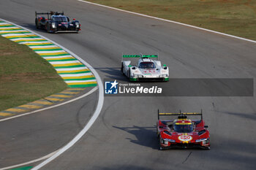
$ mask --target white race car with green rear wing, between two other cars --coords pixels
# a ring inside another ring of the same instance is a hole
[[[125,61],[124,58],[140,58],[136,66],[131,65],[131,61]],[[157,58],[153,60],[152,58]],[[158,55],[123,55],[121,61],[121,72],[125,74],[130,81],[168,81],[169,69],[161,61],[158,61]]]

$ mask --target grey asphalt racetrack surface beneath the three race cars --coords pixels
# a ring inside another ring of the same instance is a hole
[[[63,10],[80,20],[82,31],[36,30],[34,11],[50,10]],[[102,80],[126,80],[119,72],[121,53],[156,52],[169,66],[170,78],[256,77],[255,43],[80,1],[1,0],[0,17],[67,47],[90,63]],[[255,103],[255,97],[105,97],[88,133],[42,169],[255,169]],[[83,128],[96,105],[93,93],[62,107],[1,122],[0,168],[63,147]],[[211,150],[158,150],[157,109],[203,109]]]

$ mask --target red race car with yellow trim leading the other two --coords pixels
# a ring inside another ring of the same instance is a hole
[[[200,120],[190,120],[187,116],[200,115]],[[159,120],[160,116],[178,116],[173,120]],[[179,112],[159,113],[157,122],[157,136],[160,150],[171,148],[194,148],[210,149],[210,134],[208,125],[203,121],[203,113]]]

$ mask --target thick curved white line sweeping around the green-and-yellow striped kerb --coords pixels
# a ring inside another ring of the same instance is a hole
[[[3,20],[0,18],[0,20]],[[4,22],[9,22],[7,20],[4,20]],[[9,22],[11,23],[11,22]],[[15,26],[18,26],[17,24],[15,23],[11,23]],[[23,26],[19,26],[20,28],[23,28],[25,30],[28,30],[30,31],[31,33],[33,34],[37,34],[27,28],[24,28]],[[97,84],[98,84],[98,87],[99,87],[99,99],[98,99],[98,104],[97,104],[97,108],[94,112],[94,115],[91,117],[91,119],[89,120],[89,122],[86,124],[86,126],[83,128],[82,131],[79,132],[79,134],[77,136],[75,136],[74,139],[72,139],[72,141],[70,141],[67,145],[65,145],[64,147],[62,147],[60,150],[58,150],[56,153],[54,153],[52,156],[50,156],[50,158],[48,158],[47,160],[43,161],[42,163],[40,163],[38,166],[35,166],[33,169],[31,170],[36,170],[36,169],[40,169],[42,168],[42,166],[45,166],[46,164],[50,163],[50,161],[53,161],[55,158],[57,158],[59,155],[61,155],[63,152],[65,152],[66,150],[68,150],[70,147],[72,147],[76,142],[78,142],[78,140],[84,135],[86,134],[86,132],[89,130],[89,128],[91,128],[91,125],[94,124],[95,120],[97,120],[97,117],[99,116],[99,113],[100,111],[102,110],[102,107],[103,107],[103,103],[104,103],[104,88],[103,88],[103,84],[102,84],[102,80],[101,78],[99,77],[99,74],[96,72],[96,70],[89,64],[87,63],[86,61],[83,61],[82,58],[78,57],[78,55],[75,55],[75,53],[72,53],[70,50],[66,49],[65,47],[63,47],[62,45],[59,45],[58,43],[56,42],[53,42],[51,41],[50,39],[46,38],[45,36],[42,36],[42,35],[39,35],[37,34],[38,36],[41,36],[42,38],[44,39],[47,39],[49,42],[52,42],[53,44],[56,44],[58,45],[59,47],[61,47],[63,50],[67,51],[67,53],[71,54],[72,56],[74,56],[75,58],[77,58],[79,61],[81,61],[81,63],[83,63],[84,65],[86,65],[87,67],[90,68],[91,72],[94,74],[96,80],[97,80]],[[89,93],[93,93],[95,90],[97,90],[97,87],[93,88],[91,91],[89,91]],[[89,93],[86,93],[86,94],[89,94]],[[78,97],[78,98],[81,98]],[[75,98],[74,98],[75,99]],[[71,101],[70,101],[71,102]],[[65,102],[67,103],[67,102]]]

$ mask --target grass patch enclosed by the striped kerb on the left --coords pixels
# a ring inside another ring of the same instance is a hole
[[[26,45],[0,36],[0,111],[66,88],[48,61]]]

